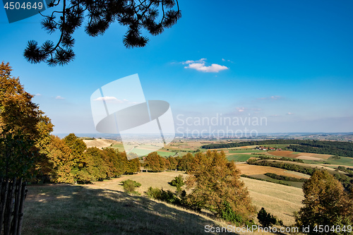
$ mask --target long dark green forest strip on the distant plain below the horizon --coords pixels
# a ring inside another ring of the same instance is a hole
[[[241,147],[246,145],[275,145],[288,144],[288,149],[294,152],[312,152],[325,155],[339,155],[342,157],[353,157],[353,143],[325,140],[253,140],[245,142],[222,143],[203,145],[205,149]]]

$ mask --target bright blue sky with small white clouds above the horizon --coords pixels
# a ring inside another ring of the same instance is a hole
[[[178,23],[161,35],[145,32],[143,48],[126,49],[118,23],[98,37],[80,28],[76,59],[54,68],[23,57],[28,40],[58,40],[42,30],[42,16],[8,23],[1,8],[0,60],[35,95],[54,134],[97,133],[92,93],[136,73],[145,100],[169,102],[177,133],[353,131],[353,1],[179,6]]]

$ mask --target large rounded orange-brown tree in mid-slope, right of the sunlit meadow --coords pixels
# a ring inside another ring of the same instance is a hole
[[[240,171],[234,162],[228,162],[225,153],[197,153],[187,171],[186,203],[198,210],[205,208],[221,216],[225,207],[237,214],[239,223],[245,223],[255,212],[249,192],[239,179]]]

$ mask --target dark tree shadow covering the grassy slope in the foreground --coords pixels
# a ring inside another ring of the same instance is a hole
[[[203,234],[205,225],[220,227],[211,219],[141,196],[44,184],[28,187],[23,234]]]

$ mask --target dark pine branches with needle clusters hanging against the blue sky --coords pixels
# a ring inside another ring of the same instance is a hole
[[[103,35],[114,22],[126,26],[123,42],[125,47],[132,48],[145,47],[148,43],[142,29],[159,35],[181,18],[178,0],[59,0],[55,4],[52,1],[49,7],[59,4],[62,4],[61,11],[52,11],[42,20],[42,28],[49,34],[59,30],[59,40],[56,43],[47,40],[42,46],[35,40],[28,41],[23,56],[30,63],[63,66],[72,61],[75,57],[73,32],[84,20],[87,20],[85,32],[92,37]]]

